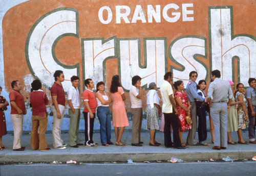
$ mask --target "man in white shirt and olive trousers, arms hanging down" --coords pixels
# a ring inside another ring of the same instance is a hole
[[[69,116],[70,116],[70,126],[69,126],[69,145],[71,147],[78,148],[78,145],[83,145],[79,143],[78,131],[79,131],[79,121],[80,121],[80,100],[79,91],[77,87],[79,86],[79,77],[71,77],[72,86],[68,90],[68,104],[69,104]]]

